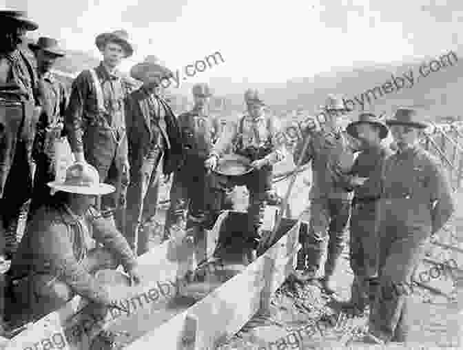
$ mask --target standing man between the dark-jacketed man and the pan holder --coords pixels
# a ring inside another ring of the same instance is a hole
[[[209,85],[198,83],[193,86],[194,107],[178,117],[181,128],[185,161],[174,173],[170,192],[170,207],[167,212],[165,236],[169,236],[172,224],[183,226],[187,216],[186,229],[196,246],[196,261],[206,258],[205,229],[214,225],[214,192],[210,187],[210,176],[204,167],[220,132],[220,122],[209,114],[209,99],[212,92]],[[217,203],[215,203],[217,204]]]

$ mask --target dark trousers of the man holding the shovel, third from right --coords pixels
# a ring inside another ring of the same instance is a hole
[[[347,223],[351,201],[342,198],[315,198],[311,200],[309,232],[302,247],[307,257],[307,268],[314,277],[319,273],[322,256],[327,251],[325,276],[329,277],[347,243]]]

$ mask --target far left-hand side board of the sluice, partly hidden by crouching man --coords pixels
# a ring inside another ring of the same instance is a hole
[[[216,221],[216,225],[214,225],[214,228],[209,231],[207,245],[208,256],[211,255],[215,249],[214,243],[217,241],[220,225],[227,215],[228,212],[220,214]],[[168,240],[162,245],[154,247],[154,249],[151,249],[147,252],[147,254],[138,258],[142,283],[137,287],[133,287],[131,295],[128,296],[128,298],[145,296],[146,299],[146,294],[154,287],[161,288],[159,283],[162,284],[171,281],[175,282],[176,280],[184,278],[188,269],[192,266],[191,259],[194,250],[192,247],[183,245],[181,243],[182,238],[182,236],[172,238],[172,240]],[[153,307],[150,303],[146,303],[143,306],[145,309],[146,307]],[[93,305],[88,305],[87,301],[82,300],[80,296],[76,296],[68,302],[68,304],[61,307],[61,309],[48,314],[37,322],[34,322],[30,325],[30,327],[25,329],[25,331],[12,338],[6,349],[33,349],[35,344],[48,342],[52,336],[54,336],[54,339],[59,339],[61,336],[68,336],[72,329],[76,329],[76,332],[79,332],[79,322],[86,322],[88,324],[89,316],[92,315],[93,309]],[[143,307],[140,307],[136,310],[136,313],[139,313],[142,310]],[[80,315],[78,317],[73,317],[76,313],[80,313]],[[89,342],[91,340],[90,338],[96,336],[96,333],[114,325],[115,322],[130,322],[130,320],[136,316],[136,313],[127,314],[125,317],[121,315],[114,318],[112,318],[112,316],[116,313],[107,313],[107,317],[104,319],[103,325],[101,325],[101,322],[99,324],[95,324],[92,329],[85,332],[87,333],[87,337],[72,337],[70,342],[66,342],[65,349],[88,349],[90,345]],[[81,333],[83,333],[82,327],[83,325],[81,325]],[[68,336],[68,338],[70,337]]]

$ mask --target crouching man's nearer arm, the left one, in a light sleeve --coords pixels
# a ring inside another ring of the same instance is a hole
[[[59,280],[62,280],[76,294],[88,298],[93,302],[109,305],[110,291],[105,289],[77,263],[70,240],[69,227],[52,223],[48,232],[42,234],[42,247],[46,247],[45,262],[50,263],[50,269]],[[67,233],[67,234],[66,234]]]

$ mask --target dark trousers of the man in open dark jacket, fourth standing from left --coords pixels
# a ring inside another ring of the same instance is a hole
[[[154,147],[143,160],[138,174],[134,174],[127,189],[127,224],[125,238],[132,249],[136,248],[136,254],[145,254],[148,251],[150,240],[149,230],[142,229],[144,220],[156,214],[158,197],[158,178],[161,176],[158,168],[163,149]],[[132,172],[133,174],[133,172]],[[154,194],[154,195],[153,195]],[[154,202],[147,200],[154,199]],[[149,208],[149,210],[147,210]],[[150,216],[147,216],[150,215]]]

